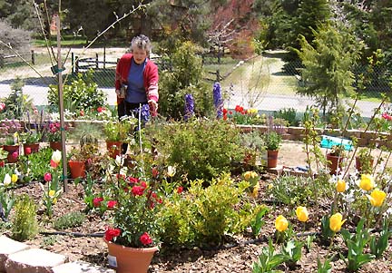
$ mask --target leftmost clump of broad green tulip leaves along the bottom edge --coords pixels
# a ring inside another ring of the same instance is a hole
[[[272,240],[269,239],[269,246],[261,250],[259,260],[253,262],[253,273],[281,273],[281,270],[275,270],[285,261],[285,257],[281,253],[275,252]]]

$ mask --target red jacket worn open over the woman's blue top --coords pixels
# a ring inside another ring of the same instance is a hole
[[[116,67],[116,76],[115,76],[115,89],[119,90],[122,86],[122,83],[128,83],[128,74],[131,69],[132,63],[132,54],[123,54]],[[158,94],[158,66],[153,63],[150,59],[147,59],[147,63],[144,67],[143,71],[143,82],[144,89],[147,94],[147,101],[158,102],[159,94]],[[123,99],[117,97],[117,104],[122,102]]]

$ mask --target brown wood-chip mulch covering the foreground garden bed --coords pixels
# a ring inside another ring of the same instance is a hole
[[[273,175],[266,174],[260,180],[260,196],[258,202],[262,203],[267,197],[263,194],[270,183]],[[37,202],[41,200],[42,190],[38,183],[31,183],[15,190],[17,194],[23,192],[29,194]],[[83,188],[69,183],[69,191],[62,195],[62,198],[54,206],[54,218],[69,213],[71,211],[83,211]],[[262,228],[260,238],[254,239],[250,233],[242,236],[230,238],[230,242],[217,249],[168,249],[162,248],[154,255],[149,272],[251,272],[252,263],[258,259],[263,247],[268,245],[268,239],[274,237],[274,220],[280,213],[288,216],[292,215],[292,209],[287,207],[270,206],[271,210],[266,217],[266,225]],[[327,210],[326,210],[327,211]],[[309,209],[310,215],[315,211]],[[324,212],[323,212],[324,213]],[[50,220],[44,216],[44,208],[38,210],[40,225],[44,230],[55,231],[51,228]],[[289,221],[296,222],[295,216],[288,217]],[[99,216],[88,215],[82,227],[67,229],[67,232],[80,232],[83,234],[103,233],[105,222]],[[305,228],[305,229],[304,229]],[[319,229],[318,223],[309,220],[306,227],[297,226],[296,230],[315,231]],[[5,231],[7,233],[7,231]],[[305,238],[304,238],[305,239]],[[64,235],[38,235],[35,239],[26,242],[29,245],[47,249],[55,253],[61,253],[70,261],[84,260],[93,264],[107,267],[107,247],[100,237],[73,237]],[[328,247],[322,246],[318,239],[312,243],[310,249],[303,248],[302,258],[294,268],[281,266],[283,272],[317,272],[317,259],[324,260],[328,254]],[[330,254],[337,254],[338,251],[347,251],[340,237],[335,237],[333,248]],[[332,261],[332,272],[345,272],[344,262],[338,255]],[[373,260],[358,272],[392,272],[392,248],[389,247],[384,254],[384,258]]]

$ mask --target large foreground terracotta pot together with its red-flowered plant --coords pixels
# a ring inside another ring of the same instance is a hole
[[[120,171],[121,164],[117,164]],[[153,173],[153,171],[152,171]],[[162,200],[156,193],[156,176],[148,180],[144,175],[125,176],[109,174],[113,222],[106,229],[104,242],[109,250],[109,267],[118,273],[146,273],[155,251],[158,250],[160,219],[157,213]],[[108,201],[109,204],[109,201]]]

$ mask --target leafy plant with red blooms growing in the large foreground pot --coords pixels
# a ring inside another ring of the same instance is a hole
[[[124,170],[120,157],[116,159],[117,167]],[[106,229],[104,239],[131,248],[148,248],[159,242],[160,219],[156,217],[162,204],[155,188],[159,173],[152,170],[152,179],[148,181],[143,175],[127,175],[120,171],[110,175],[109,183],[100,203],[113,204],[112,227]],[[105,200],[108,200],[105,202]]]

